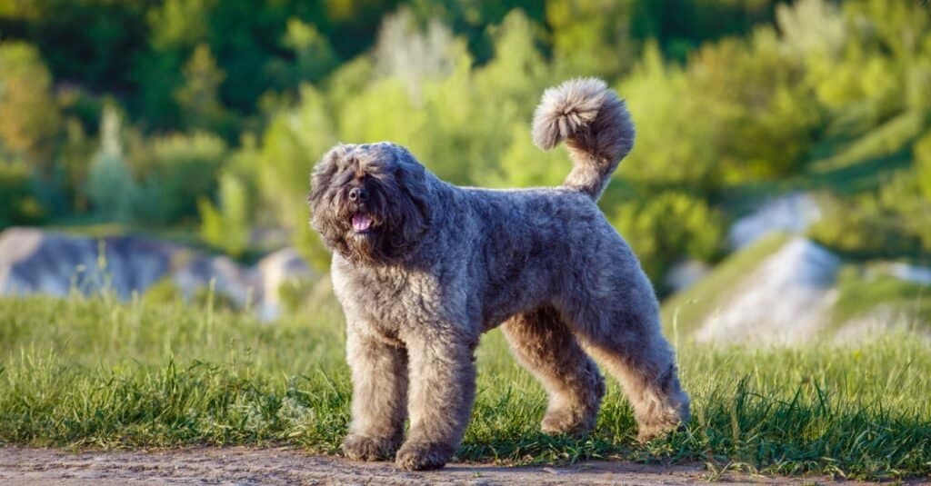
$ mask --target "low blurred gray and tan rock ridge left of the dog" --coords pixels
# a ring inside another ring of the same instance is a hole
[[[0,295],[111,290],[121,299],[170,278],[186,297],[209,287],[260,317],[280,314],[278,289],[316,277],[293,249],[269,254],[254,267],[181,245],[139,236],[90,238],[34,228],[0,234]]]

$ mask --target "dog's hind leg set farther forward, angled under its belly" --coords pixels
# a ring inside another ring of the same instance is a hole
[[[502,326],[511,352],[549,396],[540,428],[547,434],[584,433],[595,426],[604,379],[556,309],[544,306]]]

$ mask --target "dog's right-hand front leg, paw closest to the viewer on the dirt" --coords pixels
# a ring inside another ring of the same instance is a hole
[[[406,340],[410,365],[411,430],[398,467],[442,467],[459,449],[475,399],[475,345],[466,331],[420,328]]]

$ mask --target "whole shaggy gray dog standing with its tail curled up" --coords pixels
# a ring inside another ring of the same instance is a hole
[[[348,457],[446,464],[475,398],[479,335],[499,325],[546,388],[544,432],[595,425],[604,380],[589,356],[623,386],[641,439],[688,420],[653,287],[595,204],[633,145],[624,102],[597,79],[547,89],[533,139],[569,147],[560,187],[457,187],[387,142],[338,145],[314,169],[311,225],[333,250],[347,322]]]

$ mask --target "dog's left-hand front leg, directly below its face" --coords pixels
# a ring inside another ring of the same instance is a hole
[[[346,358],[352,369],[352,423],[343,441],[346,457],[374,461],[398,450],[404,435],[407,352],[350,324]]]

